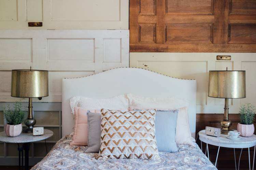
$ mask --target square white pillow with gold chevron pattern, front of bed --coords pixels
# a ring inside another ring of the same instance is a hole
[[[101,109],[98,158],[159,160],[155,136],[156,110]]]

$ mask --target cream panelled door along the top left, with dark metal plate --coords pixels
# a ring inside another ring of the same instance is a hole
[[[0,29],[129,29],[128,6],[128,0],[1,0]],[[29,21],[43,26],[28,27]]]

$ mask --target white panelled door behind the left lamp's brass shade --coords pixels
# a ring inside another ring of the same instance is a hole
[[[40,102],[61,102],[63,78],[129,66],[129,30],[0,30],[0,102],[27,101],[10,96],[11,70],[30,66],[49,70]]]

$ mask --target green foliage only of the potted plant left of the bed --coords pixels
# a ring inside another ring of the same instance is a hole
[[[17,125],[24,121],[25,108],[20,102],[15,102],[13,104],[13,108],[10,107],[10,104],[8,104],[6,107],[3,106],[3,116],[7,124]]]

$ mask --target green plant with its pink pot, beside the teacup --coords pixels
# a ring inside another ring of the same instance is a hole
[[[243,105],[240,107],[240,120],[241,123],[237,125],[237,131],[241,136],[250,137],[254,133],[254,116],[255,109],[252,104]]]

